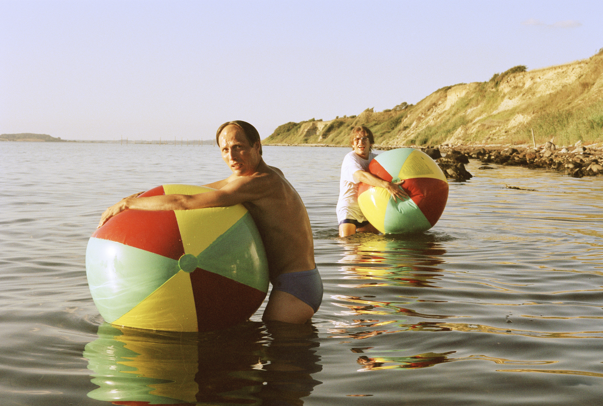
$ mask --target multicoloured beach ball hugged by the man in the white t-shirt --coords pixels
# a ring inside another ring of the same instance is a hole
[[[429,230],[440,219],[448,199],[448,181],[438,164],[413,148],[398,148],[377,155],[368,172],[388,182],[404,181],[409,199],[394,201],[382,187],[361,183],[358,204],[381,233],[405,234]]]

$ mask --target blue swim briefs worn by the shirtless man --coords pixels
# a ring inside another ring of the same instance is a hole
[[[300,272],[281,273],[271,281],[272,290],[280,290],[300,299],[314,309],[314,313],[323,301],[323,281],[318,268]]]

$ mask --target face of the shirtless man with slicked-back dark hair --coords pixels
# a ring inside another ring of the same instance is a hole
[[[218,136],[222,159],[236,176],[249,176],[256,172],[261,160],[259,142],[249,145],[241,127],[227,125]]]

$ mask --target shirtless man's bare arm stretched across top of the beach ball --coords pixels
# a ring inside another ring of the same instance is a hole
[[[217,185],[224,181],[212,183]],[[124,210],[191,210],[204,207],[226,207],[260,199],[270,193],[267,176],[245,176],[226,183],[221,189],[197,195],[162,195],[128,197],[107,208],[98,227]],[[208,187],[212,187],[207,185]]]

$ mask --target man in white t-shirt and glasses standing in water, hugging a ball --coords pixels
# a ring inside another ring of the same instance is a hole
[[[374,137],[364,125],[355,127],[350,134],[350,146],[353,151],[343,158],[341,180],[339,181],[339,201],[337,202],[337,221],[339,237],[347,237],[356,232],[379,233],[371,225],[358,205],[358,184],[363,182],[387,190],[394,199],[408,198],[400,184],[387,182],[367,172],[368,163],[377,156],[371,152]]]

